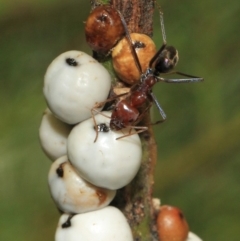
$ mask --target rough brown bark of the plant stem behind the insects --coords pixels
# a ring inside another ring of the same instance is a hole
[[[101,3],[103,1],[91,1],[92,8]],[[130,32],[152,36],[153,0],[110,0],[109,4],[123,14]],[[109,64],[105,64],[105,66],[107,67]],[[157,159],[157,147],[149,123],[150,115],[148,113],[141,123],[141,125],[148,126],[148,131],[140,135],[143,147],[141,168],[134,180],[118,191],[112,203],[127,217],[136,241],[158,240],[152,202],[153,172]]]

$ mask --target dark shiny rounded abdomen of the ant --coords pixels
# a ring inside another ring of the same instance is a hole
[[[165,47],[155,62],[155,74],[169,72],[176,66],[178,59],[178,51],[173,46]]]

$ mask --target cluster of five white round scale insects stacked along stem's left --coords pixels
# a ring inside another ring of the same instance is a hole
[[[50,193],[63,213],[55,241],[133,240],[126,218],[109,204],[137,174],[142,147],[137,134],[117,140],[129,130],[112,131],[111,112],[95,108],[110,88],[108,71],[80,51],[61,54],[47,69],[39,136],[53,161]]]

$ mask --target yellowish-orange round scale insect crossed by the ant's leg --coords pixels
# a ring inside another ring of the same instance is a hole
[[[130,34],[134,47],[145,72],[149,67],[149,61],[156,53],[156,46],[153,40],[145,34]],[[128,84],[135,84],[139,81],[141,73],[136,63],[126,37],[123,38],[112,51],[113,67],[118,77]]]

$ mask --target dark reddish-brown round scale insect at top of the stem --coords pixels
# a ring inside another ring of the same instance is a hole
[[[124,33],[121,18],[110,5],[96,7],[86,21],[87,43],[92,50],[99,53],[108,53]]]

